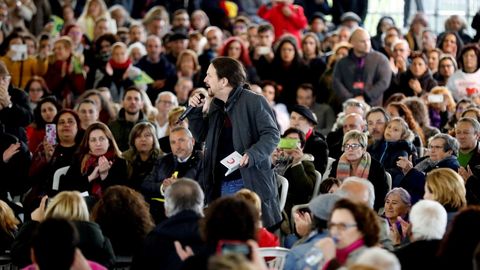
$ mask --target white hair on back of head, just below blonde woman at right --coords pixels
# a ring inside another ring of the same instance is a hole
[[[437,201],[421,200],[410,211],[413,239],[442,239],[447,228],[447,211]]]

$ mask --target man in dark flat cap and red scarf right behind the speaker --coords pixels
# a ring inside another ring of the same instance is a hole
[[[290,113],[290,127],[297,128],[305,134],[304,153],[311,154],[315,159],[315,169],[324,173],[327,168],[328,146],[323,135],[316,132],[314,127],[317,124],[313,112],[305,106],[294,105]]]

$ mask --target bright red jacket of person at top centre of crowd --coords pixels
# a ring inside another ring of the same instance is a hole
[[[274,6],[262,5],[258,9],[258,16],[269,21],[275,28],[275,40],[284,34],[292,34],[297,38],[298,46],[301,45],[301,33],[307,25],[307,17],[303,13],[303,7],[288,4],[292,14],[287,17],[283,14],[284,3],[278,3]]]

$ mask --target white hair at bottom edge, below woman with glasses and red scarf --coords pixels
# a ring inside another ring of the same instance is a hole
[[[371,266],[381,270],[400,270],[400,261],[391,252],[379,248],[367,248],[355,261],[355,265]]]

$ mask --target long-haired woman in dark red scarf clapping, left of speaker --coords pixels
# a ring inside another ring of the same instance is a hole
[[[125,184],[127,165],[110,129],[103,123],[91,124],[78,147],[78,155],[60,181],[59,190],[87,191],[102,197],[107,187]]]

